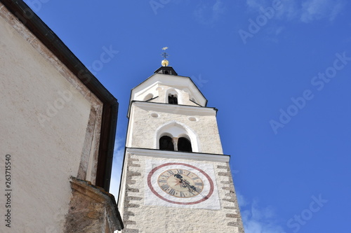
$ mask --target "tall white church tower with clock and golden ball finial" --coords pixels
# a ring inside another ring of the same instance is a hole
[[[244,232],[217,109],[206,104],[166,59],[131,91],[118,204],[122,232]]]

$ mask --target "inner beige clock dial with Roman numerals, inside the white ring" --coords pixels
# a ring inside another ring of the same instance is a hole
[[[180,198],[197,196],[204,189],[201,178],[185,169],[168,169],[159,175],[157,183],[168,195]]]

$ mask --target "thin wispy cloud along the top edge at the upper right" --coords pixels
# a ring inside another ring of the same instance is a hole
[[[312,22],[314,20],[333,21],[345,6],[345,0],[281,0],[282,9],[275,10],[275,17],[284,20]],[[246,0],[249,9],[272,6],[273,0]]]

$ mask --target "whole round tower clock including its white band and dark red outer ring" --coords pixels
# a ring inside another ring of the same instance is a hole
[[[171,204],[194,205],[213,195],[214,184],[208,174],[192,164],[160,164],[147,174],[147,186],[159,199]]]

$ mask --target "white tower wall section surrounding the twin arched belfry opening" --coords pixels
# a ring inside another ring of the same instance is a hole
[[[192,141],[194,152],[223,154],[213,108],[134,102],[126,146],[157,149],[162,127],[181,125]],[[175,132],[176,134],[176,132]],[[174,136],[174,135],[173,135]]]

